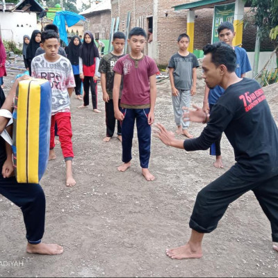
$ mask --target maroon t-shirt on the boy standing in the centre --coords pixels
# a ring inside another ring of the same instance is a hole
[[[133,59],[127,54],[117,60],[113,71],[124,76],[121,104],[150,104],[149,76],[158,72],[156,62],[152,58],[144,55],[141,59]]]

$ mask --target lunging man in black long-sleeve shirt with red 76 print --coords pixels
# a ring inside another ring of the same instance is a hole
[[[224,131],[234,148],[236,164],[208,184],[197,195],[186,245],[167,250],[172,259],[202,257],[202,239],[213,231],[227,207],[252,190],[270,220],[272,241],[278,242],[278,129],[259,83],[236,76],[236,54],[218,42],[204,47],[202,68],[208,88],[220,85],[224,94],[211,115],[197,108],[184,114],[184,120],[208,123],[199,138],[177,140],[174,133],[157,124],[156,137],[165,145],[195,151],[208,149]],[[273,245],[278,251],[278,247]]]

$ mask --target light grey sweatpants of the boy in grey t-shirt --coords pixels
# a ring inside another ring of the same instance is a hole
[[[174,97],[172,95],[172,103],[174,108],[174,121],[177,126],[182,125],[182,129],[188,129],[189,121],[183,121],[183,106],[190,107],[191,94],[190,90],[179,90],[179,95]]]

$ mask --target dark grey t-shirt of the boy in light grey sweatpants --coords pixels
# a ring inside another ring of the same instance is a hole
[[[178,90],[190,90],[192,87],[192,70],[199,67],[196,56],[189,53],[188,56],[174,54],[169,61],[168,67],[174,68],[174,86]]]

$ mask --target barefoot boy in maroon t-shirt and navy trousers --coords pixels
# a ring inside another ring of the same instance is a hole
[[[152,58],[142,54],[147,34],[142,28],[135,27],[129,33],[131,53],[117,60],[113,87],[115,118],[122,121],[122,161],[117,170],[124,172],[131,165],[131,147],[134,122],[136,120],[140,165],[142,175],[153,181],[149,172],[151,154],[151,125],[154,122],[156,103],[156,72],[158,67]],[[118,107],[120,83],[124,79],[120,109]]]

